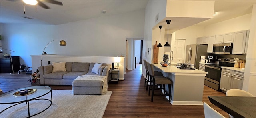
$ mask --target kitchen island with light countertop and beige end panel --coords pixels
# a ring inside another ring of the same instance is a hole
[[[172,64],[167,67],[162,67],[161,64],[153,65],[155,70],[161,71],[173,82],[171,104],[203,105],[204,76],[207,72],[198,69],[179,69]]]

